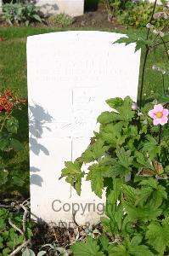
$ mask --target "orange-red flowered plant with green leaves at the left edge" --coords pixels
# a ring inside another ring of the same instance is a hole
[[[14,117],[14,111],[21,110],[25,101],[15,96],[11,90],[0,92],[0,186],[7,184],[22,186],[24,180],[20,174],[14,172],[8,157],[10,153],[17,154],[23,147],[16,135],[19,121]],[[8,155],[8,157],[7,157]],[[16,166],[17,167],[17,166]]]

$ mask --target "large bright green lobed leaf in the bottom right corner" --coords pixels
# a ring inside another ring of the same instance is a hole
[[[166,252],[166,247],[169,246],[169,218],[163,219],[161,223],[149,224],[146,238],[149,245],[163,255]]]

